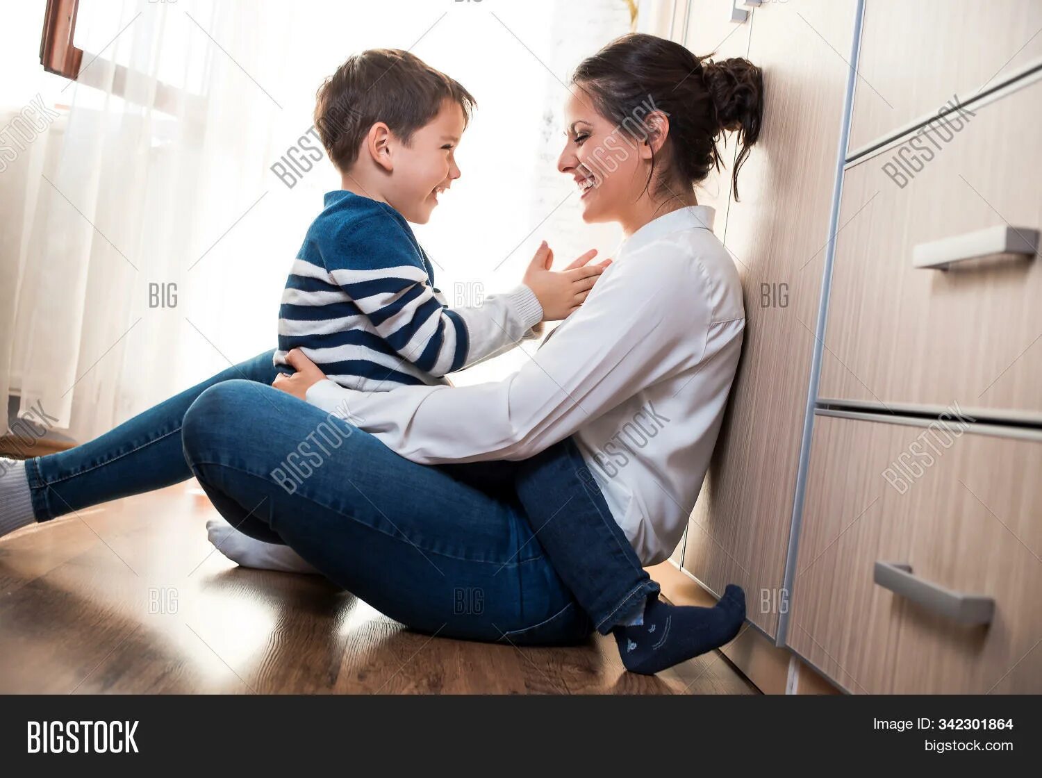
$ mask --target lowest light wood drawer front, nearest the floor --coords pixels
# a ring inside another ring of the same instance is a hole
[[[815,419],[787,642],[852,693],[1042,692],[1042,435],[972,429]],[[877,561],[992,599],[990,623],[875,583]]]

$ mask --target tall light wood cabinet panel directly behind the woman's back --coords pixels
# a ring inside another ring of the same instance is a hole
[[[684,567],[718,594],[727,583],[742,585],[750,621],[773,635],[857,3],[770,3],[742,25],[727,21],[727,1],[690,5],[688,48],[760,66],[766,108],[760,142],[739,177],[741,200],[724,199],[728,175],[709,182],[717,193],[706,201],[717,208],[715,231],[742,277],[746,330]]]

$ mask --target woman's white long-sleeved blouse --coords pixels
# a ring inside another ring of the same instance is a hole
[[[695,205],[637,230],[586,303],[502,380],[369,394],[326,380],[307,401],[423,465],[525,459],[574,435],[641,561],[660,562],[701,490],[745,327],[713,216]]]

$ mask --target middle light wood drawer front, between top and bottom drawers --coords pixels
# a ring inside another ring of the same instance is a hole
[[[1024,237],[1042,228],[1042,78],[971,108],[959,131],[918,137],[903,178],[894,159],[913,148],[909,139],[846,171],[822,400],[958,403],[974,418],[1042,419],[1038,255],[913,265],[917,246],[986,228],[1012,225]]]

